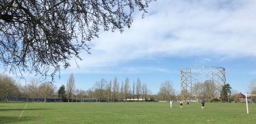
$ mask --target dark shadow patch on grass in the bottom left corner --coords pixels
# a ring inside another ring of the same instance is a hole
[[[37,117],[21,117],[21,119],[18,119],[18,117],[0,117],[0,123],[29,123],[29,121],[34,121],[36,118]]]

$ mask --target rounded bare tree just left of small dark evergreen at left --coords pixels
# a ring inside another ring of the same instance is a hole
[[[54,95],[56,85],[51,82],[42,82],[39,86],[40,95],[44,97],[44,102],[47,102],[47,97]]]

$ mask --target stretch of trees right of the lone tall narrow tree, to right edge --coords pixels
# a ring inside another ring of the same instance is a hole
[[[256,78],[251,81],[249,86],[251,89],[251,94],[256,94]],[[162,82],[159,88],[159,92],[156,95],[152,95],[151,91],[147,89],[146,83],[141,83],[140,78],[137,82],[131,84],[129,78],[125,79],[125,82],[122,81],[120,84],[117,82],[115,77],[113,82],[107,83],[107,81],[102,78],[101,81],[95,82],[94,87],[84,91],[76,89],[71,94],[73,99],[83,99],[86,97],[97,97],[100,100],[120,100],[120,99],[144,99],[144,100],[153,100],[153,99],[162,99],[162,100],[181,100],[181,99],[199,99],[207,100],[211,102],[213,100],[218,101],[222,100],[223,102],[235,101],[238,100],[235,95],[238,91],[231,89],[230,84],[225,84],[222,87],[214,84],[212,80],[205,80],[205,82],[198,82],[192,87],[192,97],[191,92],[180,93],[175,91],[173,88],[172,82],[166,80]]]

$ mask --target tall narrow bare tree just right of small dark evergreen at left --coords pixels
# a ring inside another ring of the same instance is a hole
[[[69,76],[68,81],[66,82],[66,95],[69,99],[71,99],[71,95],[73,91],[75,90],[75,78],[73,76],[73,73],[71,73],[71,76]]]

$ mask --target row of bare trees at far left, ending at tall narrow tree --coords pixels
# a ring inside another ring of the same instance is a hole
[[[10,76],[0,74],[0,97],[5,97],[6,102],[8,102],[9,97],[16,97],[17,99],[18,97],[25,97],[27,99],[44,98],[44,102],[47,101],[47,98],[70,99],[75,90],[73,73],[68,78],[66,90],[63,86],[56,92],[57,87],[55,84],[51,82],[40,82],[36,79],[29,80],[23,86]],[[62,90],[63,88],[64,90]]]

